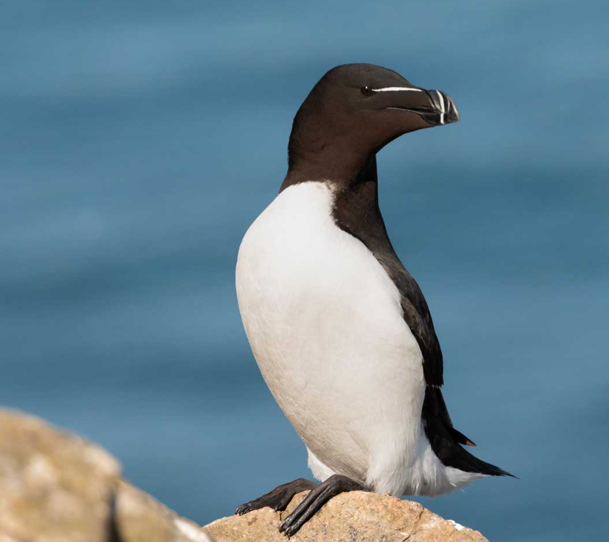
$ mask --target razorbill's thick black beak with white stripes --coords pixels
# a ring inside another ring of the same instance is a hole
[[[459,122],[459,111],[448,94],[414,87],[408,90],[411,92],[404,89],[403,93],[392,93],[392,103],[387,104],[385,109],[401,109],[416,113],[430,126]]]

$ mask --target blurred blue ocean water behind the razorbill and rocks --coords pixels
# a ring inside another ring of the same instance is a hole
[[[234,292],[292,117],[343,62],[448,92],[381,207],[476,454],[420,499],[493,542],[599,539],[609,446],[608,4],[19,0],[0,8],[0,403],[199,523],[299,476]]]

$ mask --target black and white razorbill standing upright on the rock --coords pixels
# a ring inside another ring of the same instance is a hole
[[[321,484],[295,480],[243,504],[286,508],[294,534],[343,491],[442,495],[506,471],[472,456],[441,393],[442,353],[415,279],[378,207],[376,153],[459,121],[455,103],[374,64],[326,73],[298,110],[279,195],[239,249],[251,349]]]

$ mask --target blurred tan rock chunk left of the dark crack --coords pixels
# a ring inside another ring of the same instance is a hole
[[[0,532],[16,541],[105,541],[119,470],[82,438],[0,411]]]

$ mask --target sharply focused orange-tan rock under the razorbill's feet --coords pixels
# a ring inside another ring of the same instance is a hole
[[[308,492],[296,495],[285,512],[262,508],[217,519],[204,527],[216,542],[285,542],[277,528]],[[331,499],[297,532],[295,541],[315,542],[488,542],[474,531],[442,519],[417,502],[353,491]]]

